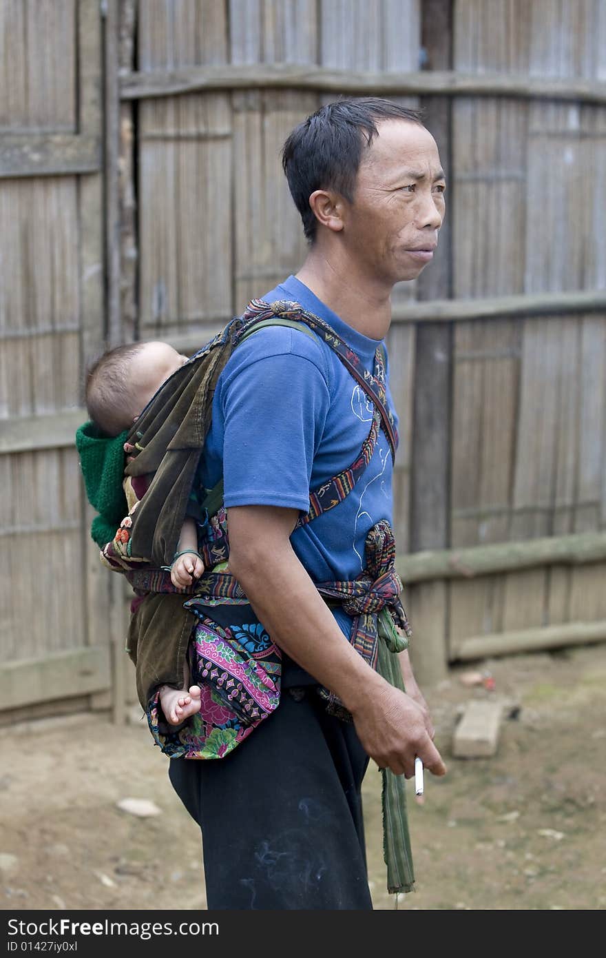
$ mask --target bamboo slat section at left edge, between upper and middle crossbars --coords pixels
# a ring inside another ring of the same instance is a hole
[[[0,183],[0,416],[78,403],[78,194],[67,178]],[[74,332],[54,332],[72,327]],[[44,330],[44,332],[36,332]],[[63,372],[64,377],[59,374]]]

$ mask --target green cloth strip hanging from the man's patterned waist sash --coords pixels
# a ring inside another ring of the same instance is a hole
[[[397,653],[408,648],[408,640],[395,630],[393,619],[387,608],[378,614],[379,648],[377,672],[404,692],[404,681]],[[406,779],[403,775],[394,775],[390,768],[381,770],[383,787],[381,804],[383,809],[383,857],[387,865],[387,889],[391,893],[412,892],[415,890],[415,871],[411,836],[406,813]]]

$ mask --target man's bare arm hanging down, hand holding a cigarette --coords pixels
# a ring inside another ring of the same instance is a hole
[[[415,756],[434,774],[445,766],[415,701],[353,649],[290,544],[299,512],[274,506],[228,509],[230,571],[274,641],[334,692],[379,767],[407,778]]]

